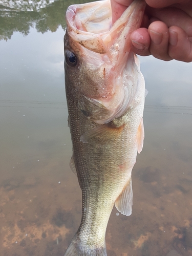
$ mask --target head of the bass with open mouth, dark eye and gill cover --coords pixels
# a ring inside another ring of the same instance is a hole
[[[98,124],[121,116],[137,91],[139,67],[130,36],[140,27],[144,8],[143,0],[135,0],[113,26],[110,0],[67,10],[67,90],[79,110]]]

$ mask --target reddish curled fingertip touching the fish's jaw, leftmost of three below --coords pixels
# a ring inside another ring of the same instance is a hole
[[[131,34],[132,51],[141,56],[150,55],[150,35],[148,29],[140,28]]]

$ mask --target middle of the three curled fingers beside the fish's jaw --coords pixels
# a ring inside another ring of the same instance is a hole
[[[148,27],[148,33],[151,37],[150,52],[151,54],[162,60],[171,60],[168,54],[169,33],[168,27],[163,22],[153,22]]]

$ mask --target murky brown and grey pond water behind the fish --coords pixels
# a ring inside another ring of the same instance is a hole
[[[3,2],[0,255],[59,256],[81,217],[81,192],[69,168],[63,78],[69,3],[55,1],[38,12],[18,12]],[[133,170],[133,213],[125,217],[113,209],[106,231],[108,255],[189,256],[192,63],[140,59],[149,91],[144,148]]]

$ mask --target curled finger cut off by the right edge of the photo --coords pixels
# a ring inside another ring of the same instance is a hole
[[[190,62],[192,61],[192,42],[186,32],[176,26],[172,26],[169,31],[168,54],[174,59]]]

